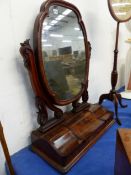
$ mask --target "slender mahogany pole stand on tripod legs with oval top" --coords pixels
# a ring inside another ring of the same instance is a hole
[[[118,80],[118,71],[117,71],[117,59],[118,59],[118,43],[119,43],[119,26],[121,22],[127,22],[131,19],[131,0],[108,0],[109,11],[117,21],[116,28],[116,41],[115,41],[115,50],[114,50],[114,64],[113,70],[111,73],[111,86],[109,94],[103,94],[100,96],[99,104],[102,104],[104,99],[108,99],[114,103],[116,121],[121,125],[121,121],[118,117],[118,103],[122,108],[126,108],[127,105],[122,104],[121,94],[116,91],[116,84]]]

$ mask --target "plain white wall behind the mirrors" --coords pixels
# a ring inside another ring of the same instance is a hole
[[[80,9],[92,44],[89,95],[90,101],[98,101],[99,95],[110,89],[116,22],[109,14],[106,0],[68,1]],[[30,132],[37,126],[34,94],[19,54],[19,43],[28,38],[32,42],[33,24],[42,2],[0,1],[0,119],[11,154],[30,143]],[[124,24],[120,34],[119,69],[128,49],[124,41],[129,33]],[[4,175],[0,147],[0,164],[1,161],[0,174]]]

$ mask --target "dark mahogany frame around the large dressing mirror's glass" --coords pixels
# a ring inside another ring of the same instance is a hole
[[[58,99],[56,94],[49,87],[48,81],[47,81],[47,78],[45,75],[44,63],[42,60],[43,59],[42,48],[41,48],[42,24],[43,24],[43,21],[45,20],[45,18],[48,16],[49,8],[52,5],[62,6],[62,7],[71,9],[73,12],[75,12],[75,14],[78,18],[78,23],[81,27],[81,30],[82,30],[82,33],[84,36],[85,54],[86,54],[86,65],[85,65],[86,72],[85,72],[84,82],[82,82],[82,84],[81,84],[82,88],[81,88],[81,91],[78,93],[78,95],[74,96],[71,99],[67,99],[67,100]],[[45,93],[46,98],[48,98],[51,103],[53,103],[55,105],[59,105],[59,106],[64,106],[64,105],[70,104],[74,101],[78,101],[88,86],[90,45],[87,41],[86,29],[85,29],[81,14],[80,14],[79,10],[77,9],[77,7],[75,7],[73,4],[70,4],[69,2],[65,2],[63,0],[49,0],[49,1],[46,1],[45,3],[43,3],[41,5],[40,13],[37,16],[36,21],[35,21],[35,25],[34,25],[34,42],[33,42],[33,44],[34,44],[34,54],[35,54],[35,58],[36,58],[35,61],[36,61],[37,69],[39,70],[39,72],[38,72],[39,78],[40,78],[40,82],[42,85],[42,89],[44,92],[46,92]]]

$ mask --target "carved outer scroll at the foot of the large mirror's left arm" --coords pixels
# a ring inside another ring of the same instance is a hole
[[[46,105],[43,99],[40,97],[36,97],[35,104],[36,104],[36,107],[38,108],[37,122],[42,128],[48,122],[48,113],[47,113]]]

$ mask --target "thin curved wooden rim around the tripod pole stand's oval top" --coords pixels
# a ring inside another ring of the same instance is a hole
[[[127,22],[131,19],[131,16],[125,20],[122,20],[122,19],[119,19],[116,15],[115,15],[115,12],[111,6],[111,1],[112,0],[108,0],[108,7],[109,7],[109,10],[110,10],[110,13],[111,13],[111,16],[114,18],[114,20],[116,20],[117,22]]]

